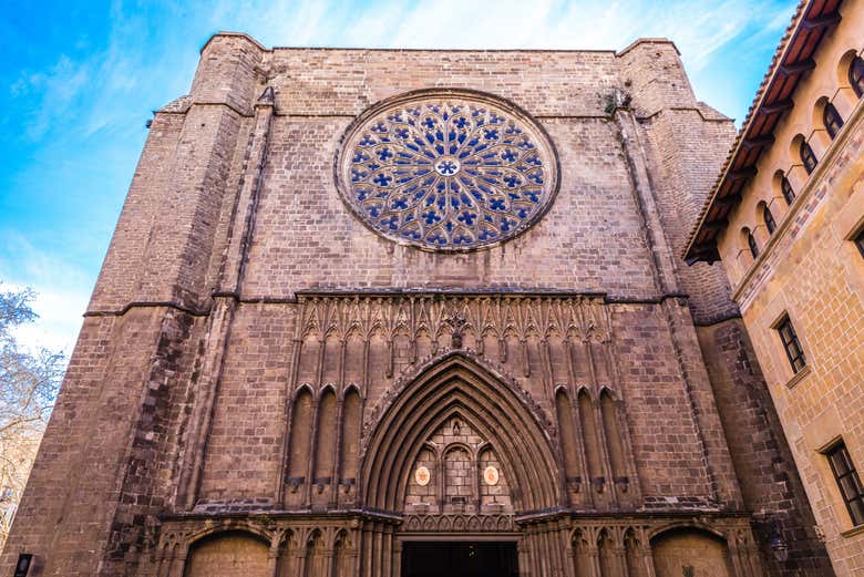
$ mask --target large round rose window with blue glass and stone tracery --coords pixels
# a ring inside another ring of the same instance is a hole
[[[524,113],[475,93],[410,97],[361,117],[338,161],[351,209],[388,238],[439,250],[501,243],[557,187],[547,137]]]

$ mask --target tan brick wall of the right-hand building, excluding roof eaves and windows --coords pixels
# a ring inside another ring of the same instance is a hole
[[[864,471],[864,259],[852,241],[864,224],[864,107],[848,84],[864,12],[860,1],[843,2],[840,11],[842,20],[813,55],[815,68],[792,95],[794,107],[774,130],[774,143],[729,215],[718,248],[834,570],[858,575],[864,533],[853,527],[823,453],[842,439],[858,474]],[[822,119],[825,102],[844,122],[833,140]],[[799,155],[800,136],[819,159],[812,174]],[[780,173],[795,193],[791,204],[781,193]],[[776,223],[773,234],[763,206]],[[755,259],[744,227],[755,237]],[[798,374],[775,329],[784,315],[806,359]]]

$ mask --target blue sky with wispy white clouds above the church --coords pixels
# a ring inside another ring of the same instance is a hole
[[[795,0],[19,2],[0,11],[0,281],[39,292],[30,346],[71,352],[146,137],[218,30],[265,45],[619,50],[672,39],[740,121]]]

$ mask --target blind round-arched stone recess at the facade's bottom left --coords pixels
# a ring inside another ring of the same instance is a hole
[[[189,548],[184,577],[265,577],[268,544],[257,535],[230,530],[208,535]]]

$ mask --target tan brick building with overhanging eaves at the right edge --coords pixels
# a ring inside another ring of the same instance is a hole
[[[722,258],[837,575],[864,575],[864,2],[804,2],[687,256]]]

